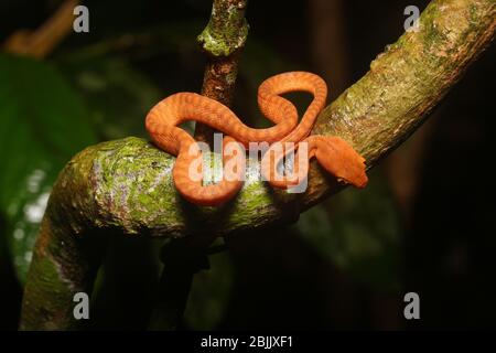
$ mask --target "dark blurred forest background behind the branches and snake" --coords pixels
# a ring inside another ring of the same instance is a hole
[[[2,0],[0,40],[37,28],[58,3]],[[71,34],[44,62],[82,98],[97,140],[145,137],[142,122],[154,103],[201,88],[206,58],[195,36],[211,3],[85,4],[90,33]],[[234,110],[261,126],[256,88],[289,69],[322,75],[336,97],[401,35],[409,4],[423,10],[427,1],[250,1]],[[212,269],[196,276],[181,329],[495,328],[494,62],[489,49],[429,121],[371,172],[365,191],[346,190],[295,225],[231,238],[230,250],[212,256]],[[15,329],[20,250],[9,245],[13,221],[0,211],[0,328]],[[90,328],[145,328],[160,246],[112,239]],[[402,315],[409,291],[420,296],[420,320]]]

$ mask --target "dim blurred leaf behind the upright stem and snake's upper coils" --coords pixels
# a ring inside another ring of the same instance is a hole
[[[56,61],[85,95],[104,139],[145,137],[142,119],[154,104],[180,90],[200,90],[206,56],[196,35],[204,25],[196,20],[170,21],[58,53]],[[258,109],[258,86],[274,74],[298,68],[260,39],[250,38],[240,60],[235,111],[249,125],[271,126]],[[291,100],[302,111],[308,98],[296,94]]]

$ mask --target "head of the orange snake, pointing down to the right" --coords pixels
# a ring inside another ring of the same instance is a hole
[[[315,157],[327,172],[355,188],[367,185],[365,159],[348,142],[338,137],[325,137],[319,142]]]

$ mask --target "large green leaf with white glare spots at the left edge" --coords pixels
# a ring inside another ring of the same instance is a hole
[[[53,66],[0,54],[0,212],[21,281],[58,171],[95,142],[88,110]]]

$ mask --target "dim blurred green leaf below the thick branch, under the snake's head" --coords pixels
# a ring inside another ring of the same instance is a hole
[[[294,227],[319,254],[355,278],[397,288],[402,229],[392,195],[377,171],[365,190],[342,191],[303,213]]]

